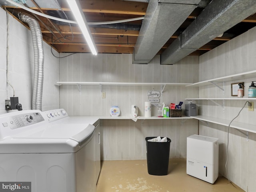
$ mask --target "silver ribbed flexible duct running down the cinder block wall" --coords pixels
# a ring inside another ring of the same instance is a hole
[[[18,13],[21,21],[28,23],[34,47],[34,84],[32,92],[32,109],[42,111],[42,94],[44,82],[44,47],[43,37],[38,21],[27,13]]]

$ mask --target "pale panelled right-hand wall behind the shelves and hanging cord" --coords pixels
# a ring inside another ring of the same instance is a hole
[[[241,72],[256,70],[256,28],[218,46],[199,58],[199,79],[207,80],[228,76]],[[216,53],[216,54],[215,54]],[[206,66],[207,65],[207,66]],[[223,72],[224,71],[224,72]],[[208,76],[210,78],[208,78]],[[214,76],[210,76],[214,74]],[[248,87],[255,78],[225,82],[224,94],[219,88],[210,85],[199,88],[200,98],[231,98],[231,83],[244,82],[244,97],[248,97]],[[222,84],[219,84],[222,86]],[[222,100],[216,101],[222,104]],[[217,106],[210,101],[200,101],[200,114],[232,120],[246,100],[225,100],[224,107]],[[255,104],[255,102],[254,102]],[[255,108],[255,107],[254,107]],[[256,124],[256,110],[248,111],[247,104],[235,121],[245,124]],[[225,169],[227,160],[228,128],[217,124],[199,123],[199,133],[204,136],[219,138],[219,172],[228,177]],[[249,133],[249,141],[244,134],[230,128],[228,147],[229,179],[248,192],[255,191],[255,141],[256,134]],[[252,182],[254,180],[254,182]]]

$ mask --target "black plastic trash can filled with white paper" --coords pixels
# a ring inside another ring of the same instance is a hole
[[[167,142],[148,141],[152,138],[156,137],[145,138],[147,147],[148,174],[167,175],[171,140],[167,138]],[[161,137],[161,139],[162,138],[163,137]]]

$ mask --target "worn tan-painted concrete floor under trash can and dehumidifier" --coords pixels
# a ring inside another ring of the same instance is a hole
[[[186,159],[170,159],[168,175],[148,174],[146,160],[103,161],[97,192],[244,192],[219,176],[214,184],[186,174]]]

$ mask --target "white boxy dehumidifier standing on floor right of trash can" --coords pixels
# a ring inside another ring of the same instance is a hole
[[[217,138],[187,137],[187,174],[214,183],[218,178],[219,144]]]

